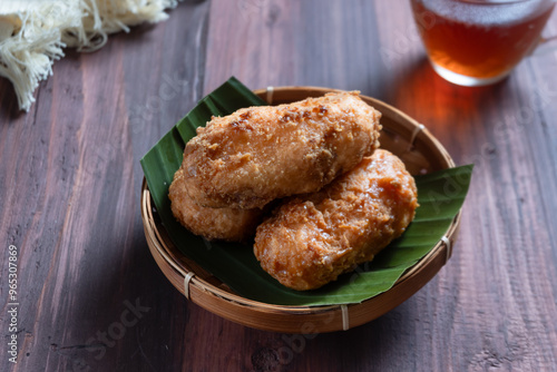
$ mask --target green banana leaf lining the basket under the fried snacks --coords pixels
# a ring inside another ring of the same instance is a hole
[[[179,168],[185,144],[212,116],[228,115],[242,107],[266,105],[234,77],[202,99],[141,159],[147,185],[163,225],[178,249],[227,284],[237,294],[278,305],[334,305],[359,303],[388,291],[405,270],[427,255],[447,233],[468,192],[472,166],[417,176],[416,218],[404,234],[371,263],[319,290],[299,292],[265,273],[251,245],[207,242],[189,233],[174,218],[168,186]]]

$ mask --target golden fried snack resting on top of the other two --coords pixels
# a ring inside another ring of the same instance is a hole
[[[316,192],[373,153],[380,117],[354,91],[214,117],[184,150],[187,192],[232,208]]]

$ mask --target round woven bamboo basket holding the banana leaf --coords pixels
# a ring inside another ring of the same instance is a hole
[[[333,89],[281,87],[256,90],[271,105],[319,97]],[[398,155],[412,174],[455,166],[442,145],[422,125],[380,100],[361,96],[382,112],[381,147]],[[147,183],[141,188],[141,217],[149,251],[168,281],[189,301],[229,321],[283,333],[322,333],[352,329],[394,309],[426,285],[451,256],[460,213],[446,236],[429,254],[410,267],[391,287],[362,303],[331,306],[283,306],[248,300],[235,294],[218,278],[187,258],[170,241],[162,225]]]

